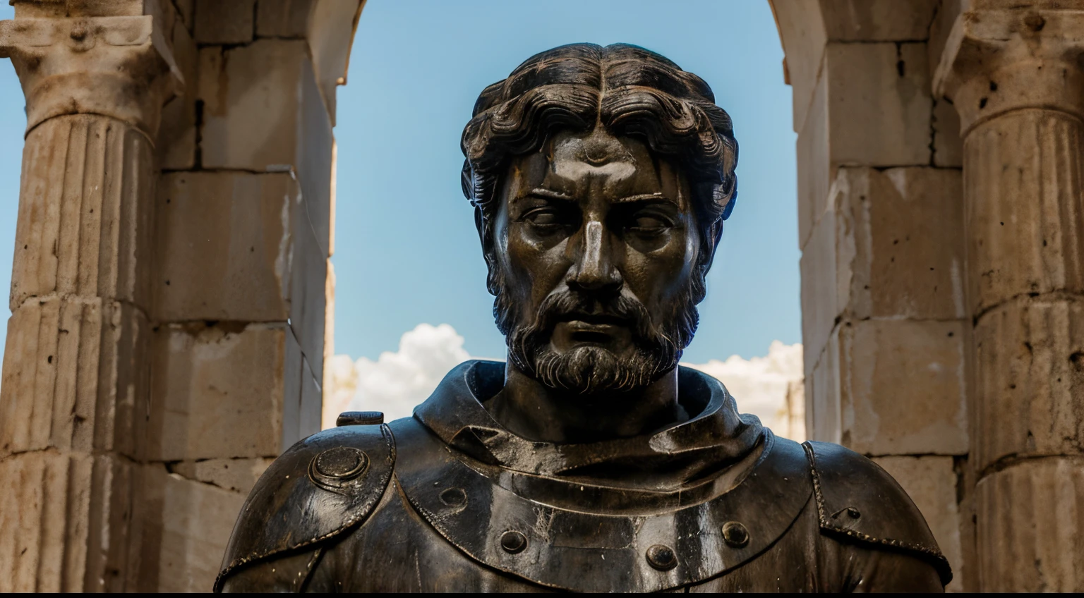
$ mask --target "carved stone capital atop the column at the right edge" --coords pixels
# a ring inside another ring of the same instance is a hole
[[[966,135],[976,125],[1019,108],[1084,118],[1084,10],[1033,8],[960,14],[933,73]]]

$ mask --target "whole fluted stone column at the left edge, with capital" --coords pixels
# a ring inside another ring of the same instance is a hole
[[[181,81],[160,15],[68,4],[21,2],[0,23],[27,114],[0,393],[5,593],[124,589],[140,558],[151,140]]]

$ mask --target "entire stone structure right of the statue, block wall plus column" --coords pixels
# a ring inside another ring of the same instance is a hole
[[[950,589],[1081,590],[1084,2],[772,5],[810,435],[900,480]]]

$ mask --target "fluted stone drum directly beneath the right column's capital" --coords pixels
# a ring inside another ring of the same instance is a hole
[[[1084,294],[1082,145],[1084,123],[1057,110],[1017,110],[968,134],[975,313],[1023,295]]]

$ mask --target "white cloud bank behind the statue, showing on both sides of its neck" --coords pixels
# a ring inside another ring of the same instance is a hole
[[[324,428],[334,426],[335,416],[344,411],[380,411],[387,421],[409,417],[449,369],[468,359],[463,337],[448,324],[418,324],[403,334],[399,351],[385,351],[375,362],[335,355],[327,362]],[[776,340],[763,358],[733,355],[726,361],[682,365],[722,380],[737,399],[739,411],[757,415],[779,435],[804,440],[801,344]]]

